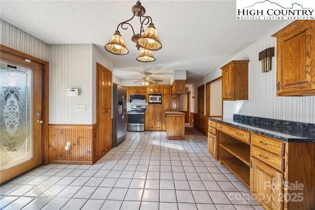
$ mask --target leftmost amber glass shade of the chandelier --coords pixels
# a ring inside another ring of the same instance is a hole
[[[125,41],[119,31],[116,31],[110,41],[105,45],[105,50],[116,55],[126,55],[129,53]]]

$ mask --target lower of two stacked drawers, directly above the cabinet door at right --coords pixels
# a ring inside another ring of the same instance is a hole
[[[267,152],[256,146],[251,145],[251,156],[257,158],[258,160],[266,163],[267,165],[277,169],[278,171],[284,171],[284,158],[275,155],[271,152]]]

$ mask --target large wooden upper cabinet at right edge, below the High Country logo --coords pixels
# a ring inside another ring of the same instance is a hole
[[[315,20],[296,20],[277,38],[277,96],[315,95]]]

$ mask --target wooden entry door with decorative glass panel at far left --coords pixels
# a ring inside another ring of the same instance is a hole
[[[1,183],[40,165],[43,152],[43,67],[8,51],[0,53]]]

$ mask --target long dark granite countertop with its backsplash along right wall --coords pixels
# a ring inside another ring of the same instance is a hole
[[[208,119],[278,140],[315,143],[315,124],[237,114],[234,114],[233,118]]]

